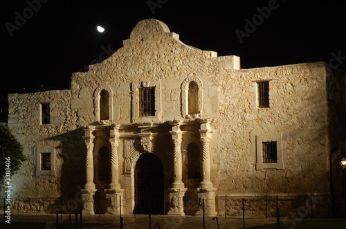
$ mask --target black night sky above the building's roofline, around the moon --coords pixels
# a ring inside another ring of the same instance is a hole
[[[242,68],[325,61],[346,70],[346,1],[11,0],[0,4],[1,106],[8,93],[69,88],[73,72],[97,61],[100,52],[121,48],[136,23],[149,18],[166,23],[190,46],[219,56],[239,56]],[[99,33],[98,25],[106,31]]]

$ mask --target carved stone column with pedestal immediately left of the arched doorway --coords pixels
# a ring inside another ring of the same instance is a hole
[[[106,198],[110,203],[107,212],[112,215],[119,215],[122,211],[122,202],[124,190],[121,189],[119,183],[119,159],[118,159],[118,146],[119,146],[119,126],[112,125],[109,132],[109,142],[111,143],[111,183],[106,192]]]

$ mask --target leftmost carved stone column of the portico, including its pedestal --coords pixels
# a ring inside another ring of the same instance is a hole
[[[83,214],[94,214],[93,212],[93,195],[96,188],[93,183],[93,139],[92,130],[89,127],[84,128],[84,137],[86,144],[86,183],[82,191]]]

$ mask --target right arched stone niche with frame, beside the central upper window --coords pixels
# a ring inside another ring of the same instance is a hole
[[[201,117],[202,109],[202,82],[198,77],[188,77],[181,83],[181,115],[185,119],[198,118]]]

